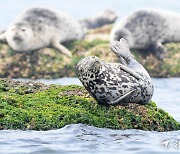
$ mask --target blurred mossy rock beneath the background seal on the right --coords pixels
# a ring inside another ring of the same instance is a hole
[[[164,46],[167,53],[163,61],[159,61],[149,51],[133,51],[133,54],[152,77],[180,77],[180,43],[168,43]]]

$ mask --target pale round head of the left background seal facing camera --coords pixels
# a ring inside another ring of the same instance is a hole
[[[7,43],[15,51],[27,51],[33,31],[28,23],[15,23],[7,30]]]

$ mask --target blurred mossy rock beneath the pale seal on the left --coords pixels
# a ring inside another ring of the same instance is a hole
[[[78,61],[85,57],[89,49],[104,42],[107,41],[71,41],[65,46],[72,51],[72,58],[51,48],[15,53],[8,45],[0,44],[0,77],[35,79],[76,76]]]

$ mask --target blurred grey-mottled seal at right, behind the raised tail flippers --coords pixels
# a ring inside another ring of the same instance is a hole
[[[180,41],[180,14],[159,10],[136,11],[118,22],[111,31],[110,41],[125,38],[130,49],[151,51],[162,60],[166,49],[162,44]]]

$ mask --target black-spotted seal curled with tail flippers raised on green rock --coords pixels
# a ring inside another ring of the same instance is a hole
[[[125,39],[115,41],[110,49],[120,63],[106,63],[98,57],[87,57],[77,64],[77,75],[86,90],[100,104],[146,104],[153,95],[151,78],[134,59]]]

